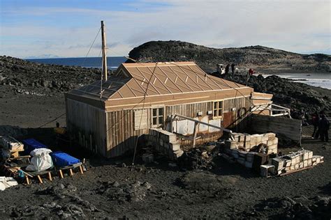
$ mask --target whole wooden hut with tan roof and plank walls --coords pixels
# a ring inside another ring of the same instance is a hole
[[[67,93],[66,120],[81,146],[117,157],[150,128],[192,134],[194,123],[172,121],[176,114],[233,127],[250,113],[252,97],[253,88],[208,75],[193,62],[123,63],[107,81]],[[221,136],[207,125],[198,134],[198,143]]]

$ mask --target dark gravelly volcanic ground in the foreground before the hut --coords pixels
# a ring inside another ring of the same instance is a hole
[[[311,127],[304,127],[310,134]],[[54,145],[51,136],[39,139]],[[47,139],[47,140],[46,140]],[[303,147],[323,155],[310,170],[261,178],[215,156],[211,168],[169,166],[161,156],[103,160],[92,155],[84,175],[19,184],[0,192],[3,219],[330,219],[331,145],[306,139]],[[297,150],[296,148],[286,150]],[[285,151],[285,149],[283,149]]]

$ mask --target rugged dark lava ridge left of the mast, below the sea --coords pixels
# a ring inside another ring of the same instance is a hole
[[[0,85],[16,93],[57,95],[100,79],[101,70],[75,66],[32,63],[0,56]]]

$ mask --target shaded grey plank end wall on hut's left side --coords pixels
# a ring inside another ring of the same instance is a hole
[[[106,156],[104,110],[66,98],[66,122],[81,146]]]

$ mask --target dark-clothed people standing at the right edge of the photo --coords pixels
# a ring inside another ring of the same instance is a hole
[[[329,129],[330,129],[330,123],[328,118],[326,118],[325,113],[321,111],[319,114],[316,111],[312,118],[312,124],[314,125],[314,132],[312,135],[313,139],[318,139],[318,137],[321,138],[321,141],[329,141]]]

